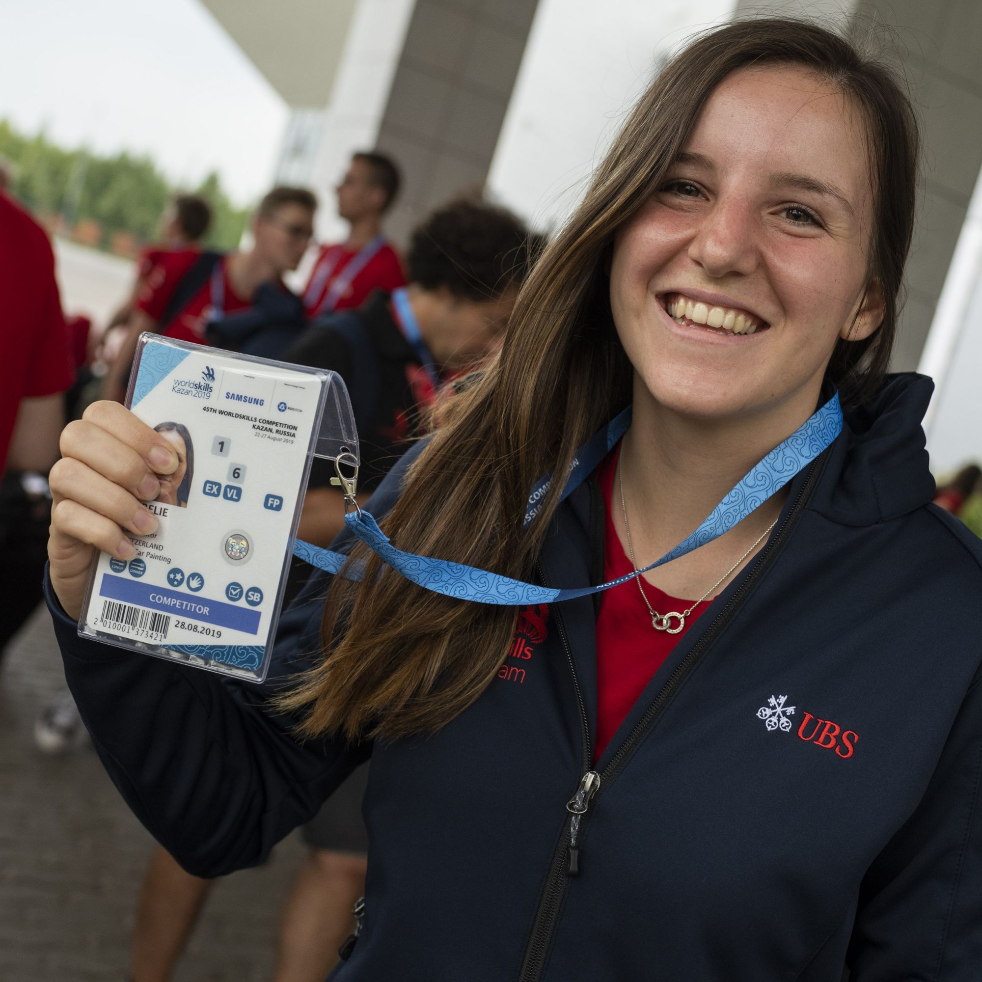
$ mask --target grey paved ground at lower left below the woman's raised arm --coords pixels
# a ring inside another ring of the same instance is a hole
[[[62,684],[41,611],[0,664],[0,980],[123,982],[151,850],[90,748],[46,757],[34,715]],[[175,982],[262,982],[302,846],[218,885]]]

